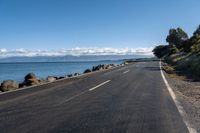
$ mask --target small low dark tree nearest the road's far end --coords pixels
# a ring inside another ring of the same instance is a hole
[[[159,45],[156,46],[153,51],[154,55],[158,58],[162,58],[168,54],[168,45]]]

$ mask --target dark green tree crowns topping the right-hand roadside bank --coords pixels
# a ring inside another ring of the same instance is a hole
[[[190,38],[181,28],[170,29],[166,41],[168,45],[159,45],[153,49],[154,55],[158,58],[177,52],[200,54],[200,25]]]

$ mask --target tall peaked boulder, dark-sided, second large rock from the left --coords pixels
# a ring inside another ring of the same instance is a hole
[[[37,84],[40,84],[40,82],[37,79],[37,77],[35,76],[35,74],[29,73],[24,77],[24,82],[22,84],[20,84],[20,87],[37,85]]]

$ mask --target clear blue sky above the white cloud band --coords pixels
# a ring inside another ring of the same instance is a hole
[[[0,48],[149,48],[192,34],[199,0],[0,0]]]

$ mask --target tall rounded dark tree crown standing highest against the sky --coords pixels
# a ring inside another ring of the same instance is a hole
[[[170,29],[166,41],[169,45],[175,45],[178,49],[183,48],[183,42],[188,39],[188,35],[181,28]]]

